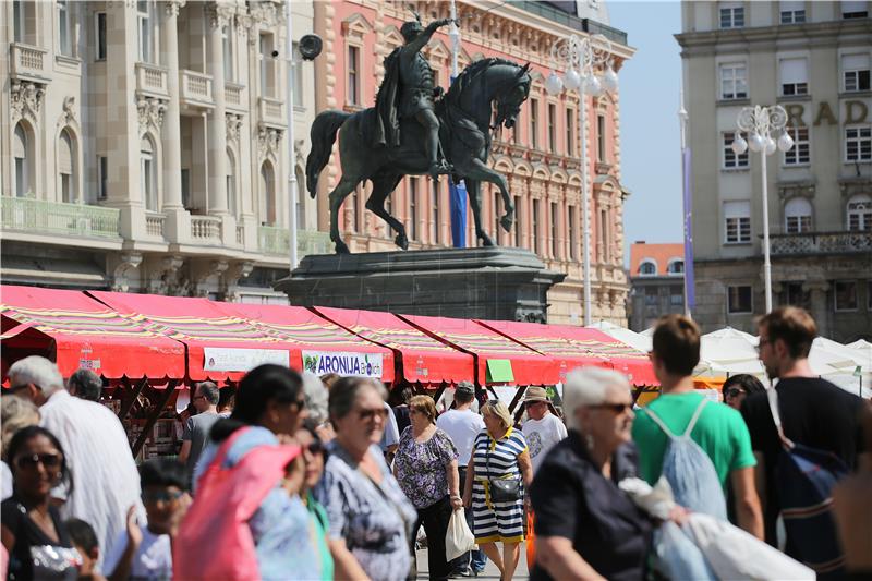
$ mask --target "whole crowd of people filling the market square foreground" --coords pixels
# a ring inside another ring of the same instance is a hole
[[[869,402],[813,374],[801,308],[773,311],[759,332],[775,387],[737,375],[713,401],[692,378],[699,328],[663,317],[661,392],[643,408],[626,376],[598,367],[571,372],[559,398],[529,387],[512,414],[468,382],[439,401],[411,387],[389,398],[371,378],[261,365],[237,389],[196,384],[178,458],[140,465],[99,377],[64,384],[28,356],[0,401],[5,578],[403,581],[425,543],[429,579],[474,577],[489,559],[510,580],[528,541],[534,580],[644,579],[664,572],[656,531],[693,513],[822,579],[872,574]],[[832,501],[797,507],[786,491],[806,476],[787,470],[790,453],[835,474]],[[670,491],[668,513],[631,481]],[[477,546],[449,559],[461,510]]]

